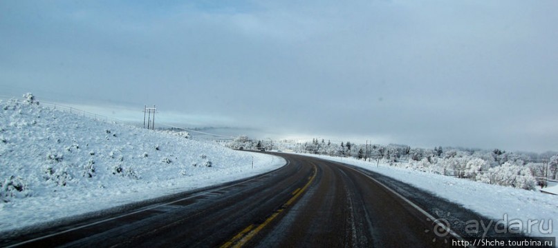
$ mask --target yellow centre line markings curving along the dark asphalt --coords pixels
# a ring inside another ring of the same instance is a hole
[[[299,196],[302,193],[304,193],[304,191],[306,189],[308,189],[308,187],[310,187],[310,184],[312,183],[312,181],[316,177],[316,174],[317,174],[317,167],[316,167],[316,165],[314,165],[314,174],[308,178],[308,183],[306,183],[306,185],[304,185],[304,187],[302,187],[302,189],[298,188],[298,189],[295,190],[295,192],[292,192],[293,196],[283,205],[283,208],[288,207],[293,202],[295,202],[295,200],[297,200],[297,198],[299,198]],[[254,227],[253,224],[246,227],[241,232],[239,232],[239,234],[236,234],[234,237],[232,237],[231,240],[225,242],[225,244],[222,245],[221,248],[242,247],[243,245],[246,244],[246,242],[248,242],[248,241],[250,241],[250,239],[254,238],[254,236],[256,236],[256,234],[258,234],[259,231],[261,231],[261,229],[263,229],[263,227],[266,227],[266,225],[268,225],[273,219],[275,219],[277,216],[279,216],[279,214],[281,214],[282,211],[283,211],[283,209],[278,209],[277,211],[275,211],[275,213],[273,213],[271,216],[269,216],[266,219],[266,221],[264,221],[263,223],[261,223],[258,227],[254,228],[254,229],[252,229]]]

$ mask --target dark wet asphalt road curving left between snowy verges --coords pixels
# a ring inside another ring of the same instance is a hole
[[[363,169],[276,155],[288,165],[248,180],[3,237],[0,246],[450,247],[451,241],[434,234],[436,223],[428,212],[449,208],[461,218],[478,218]]]

